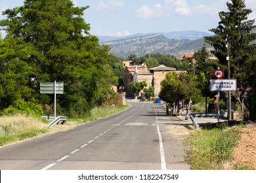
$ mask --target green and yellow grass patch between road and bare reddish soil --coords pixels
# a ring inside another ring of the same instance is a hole
[[[233,148],[239,139],[239,128],[235,126],[193,131],[192,139],[188,142],[192,147],[188,153],[192,169],[224,169],[224,164],[232,160]]]

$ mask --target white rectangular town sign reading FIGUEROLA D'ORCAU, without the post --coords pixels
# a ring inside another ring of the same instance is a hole
[[[236,91],[236,79],[210,80],[211,92]]]

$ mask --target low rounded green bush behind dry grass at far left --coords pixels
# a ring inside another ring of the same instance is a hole
[[[14,101],[12,105],[3,110],[4,115],[14,114],[27,114],[32,116],[41,116],[43,114],[43,107],[37,105],[31,101],[24,101],[24,99],[18,99]]]

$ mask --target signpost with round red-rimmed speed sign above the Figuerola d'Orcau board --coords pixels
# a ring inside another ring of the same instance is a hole
[[[221,79],[224,73],[221,69],[214,71],[214,76],[217,80],[210,80],[210,90],[211,92],[218,92],[218,122],[219,122],[219,102],[220,93],[219,92],[230,92],[236,91],[236,79]],[[231,103],[231,101],[229,101]]]

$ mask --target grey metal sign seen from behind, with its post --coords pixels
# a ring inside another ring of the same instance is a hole
[[[40,93],[54,94],[54,119],[56,119],[56,94],[64,93],[63,82],[41,82]]]

